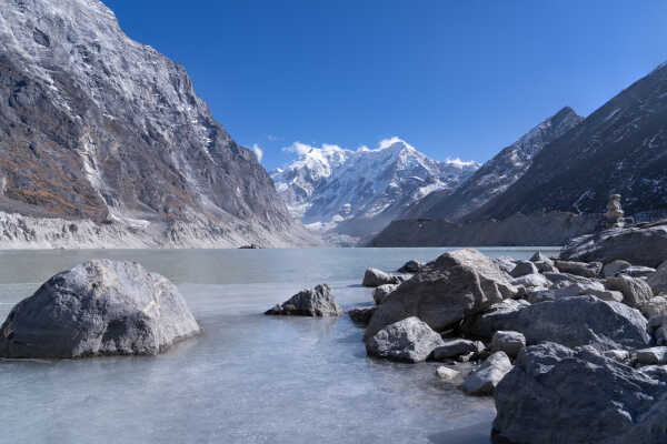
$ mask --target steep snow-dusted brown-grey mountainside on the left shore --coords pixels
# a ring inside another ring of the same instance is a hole
[[[311,240],[183,67],[98,0],[2,2],[0,134],[0,244],[76,246],[88,223],[92,246]]]

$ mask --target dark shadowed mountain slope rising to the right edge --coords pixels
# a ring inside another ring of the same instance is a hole
[[[476,219],[517,212],[604,212],[610,194],[626,214],[667,210],[667,63],[621,91],[539,152]]]

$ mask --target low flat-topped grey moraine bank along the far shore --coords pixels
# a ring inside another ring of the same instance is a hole
[[[590,233],[599,214],[566,212],[512,214],[501,220],[450,222],[444,219],[399,219],[376,235],[369,246],[564,245]]]

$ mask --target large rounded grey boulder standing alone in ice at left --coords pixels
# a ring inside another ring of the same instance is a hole
[[[169,280],[136,262],[94,260],[56,274],[11,310],[0,356],[155,355],[200,331]]]

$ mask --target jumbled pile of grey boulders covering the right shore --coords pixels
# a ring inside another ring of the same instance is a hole
[[[368,320],[366,350],[442,362],[441,380],[494,395],[495,443],[666,442],[667,249],[633,262],[610,254],[619,243],[589,249],[600,261],[570,260],[567,250],[526,261],[459,250],[409,279],[367,271],[382,279],[372,281],[375,311],[358,319]]]

